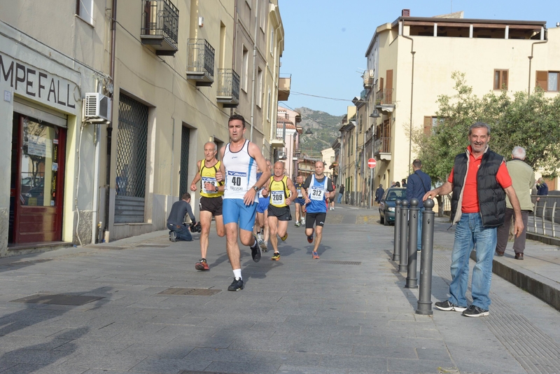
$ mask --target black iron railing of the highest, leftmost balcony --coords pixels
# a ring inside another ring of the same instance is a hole
[[[177,49],[179,9],[169,0],[146,0],[142,13],[141,35],[163,36]]]

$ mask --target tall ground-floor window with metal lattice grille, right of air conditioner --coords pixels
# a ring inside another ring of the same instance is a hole
[[[148,106],[120,94],[116,157],[115,222],[144,222]]]

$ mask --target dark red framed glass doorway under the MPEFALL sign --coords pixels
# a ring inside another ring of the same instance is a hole
[[[8,244],[62,240],[66,129],[13,114]]]

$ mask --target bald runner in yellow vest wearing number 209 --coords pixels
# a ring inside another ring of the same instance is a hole
[[[270,244],[274,249],[271,260],[279,261],[278,237],[284,242],[288,239],[288,221],[292,220],[290,203],[297,196],[297,191],[288,176],[284,175],[284,164],[274,162],[274,175],[270,177],[268,185],[262,195],[269,196],[268,227],[270,230]]]

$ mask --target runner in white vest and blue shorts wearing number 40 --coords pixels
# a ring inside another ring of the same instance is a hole
[[[225,226],[225,249],[233,270],[233,282],[228,291],[244,288],[241,277],[241,244],[251,248],[253,261],[260,261],[260,247],[253,234],[258,191],[270,178],[267,162],[260,148],[244,138],[245,118],[234,114],[228,120],[230,142],[220,150],[222,164],[216,173],[216,181],[225,180],[223,195],[223,223]],[[257,179],[257,166],[263,170]]]

